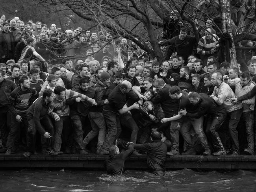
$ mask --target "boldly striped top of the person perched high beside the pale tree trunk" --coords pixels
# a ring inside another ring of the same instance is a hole
[[[215,50],[217,50],[217,48],[219,47],[219,37],[215,34],[213,34],[212,36],[213,37],[211,37],[210,40],[207,40],[204,36],[198,41],[198,45],[197,45],[198,54],[210,55],[211,54],[210,50],[212,48],[215,48]]]

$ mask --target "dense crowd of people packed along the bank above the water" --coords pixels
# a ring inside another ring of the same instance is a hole
[[[129,156],[161,146],[164,155],[148,157],[161,162],[156,171],[166,155],[254,155],[256,58],[218,63],[209,25],[199,42],[186,27],[159,42],[171,47],[160,63],[103,31],[3,16],[0,152]]]

